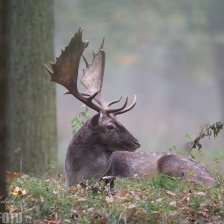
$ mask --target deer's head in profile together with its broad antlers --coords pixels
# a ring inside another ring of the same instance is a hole
[[[94,141],[94,143],[104,144],[106,149],[116,150],[135,150],[140,144],[125,129],[125,127],[116,120],[116,115],[130,111],[136,105],[136,96],[131,105],[127,107],[128,98],[124,104],[118,108],[111,108],[112,105],[119,103],[119,100],[107,102],[102,98],[101,90],[104,76],[105,52],[103,50],[104,39],[97,53],[93,53],[92,63],[88,63],[83,56],[83,51],[88,46],[88,41],[82,41],[82,30],[71,39],[69,45],[62,50],[56,63],[50,63],[51,68],[46,68],[51,75],[52,81],[64,86],[67,89],[66,94],[72,94],[86,106],[98,112],[93,116],[88,124],[88,133],[85,132],[86,142]],[[85,61],[86,68],[83,69],[82,85],[85,92],[78,91],[78,70],[81,56]],[[83,134],[83,133],[82,133]],[[89,137],[90,136],[90,137]],[[92,142],[93,143],[93,142]]]

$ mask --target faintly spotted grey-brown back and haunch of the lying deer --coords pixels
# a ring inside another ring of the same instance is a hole
[[[114,152],[108,175],[151,179],[156,174],[181,177],[208,186],[216,184],[210,172],[194,160],[166,152]]]

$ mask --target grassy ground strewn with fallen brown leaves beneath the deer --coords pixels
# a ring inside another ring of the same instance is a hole
[[[23,223],[223,223],[224,178],[217,179],[208,188],[161,174],[151,181],[116,178],[112,189],[86,182],[66,191],[63,178],[24,175],[10,183],[9,210]]]

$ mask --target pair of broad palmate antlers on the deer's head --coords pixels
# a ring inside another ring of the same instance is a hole
[[[102,41],[99,51],[96,54],[93,53],[91,64],[89,64],[83,56],[86,68],[83,70],[81,83],[86,89],[85,93],[79,93],[77,85],[80,58],[83,51],[88,46],[88,41],[82,41],[81,28],[75,33],[75,36],[71,39],[65,50],[62,50],[59,58],[56,58],[56,63],[50,63],[51,68],[47,65],[45,65],[45,67],[50,73],[52,81],[64,86],[68,90],[67,93],[72,94],[86,106],[97,112],[118,115],[131,110],[136,104],[136,97],[134,97],[134,101],[129,107],[126,108],[128,103],[128,98],[126,98],[124,105],[117,109],[111,109],[110,106],[120,102],[122,97],[119,100],[112,102],[106,102],[102,98],[101,89],[105,66],[103,44],[104,40]]]

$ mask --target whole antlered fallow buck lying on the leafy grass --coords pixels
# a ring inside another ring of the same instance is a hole
[[[103,42],[100,50],[93,53],[92,63],[85,57],[86,68],[83,70],[81,83],[86,91],[78,91],[78,69],[80,58],[88,41],[82,41],[82,30],[79,29],[69,45],[61,52],[56,63],[47,67],[52,81],[63,85],[75,98],[97,112],[75,134],[68,147],[65,159],[67,187],[77,184],[84,179],[103,176],[145,176],[152,178],[162,172],[170,176],[183,177],[194,182],[214,185],[215,180],[206,168],[195,161],[171,153],[151,153],[137,151],[140,147],[138,140],[116,120],[116,115],[128,112],[136,104],[127,107],[128,98],[123,106],[111,108],[120,102],[106,102],[101,96],[104,76],[105,53]]]

